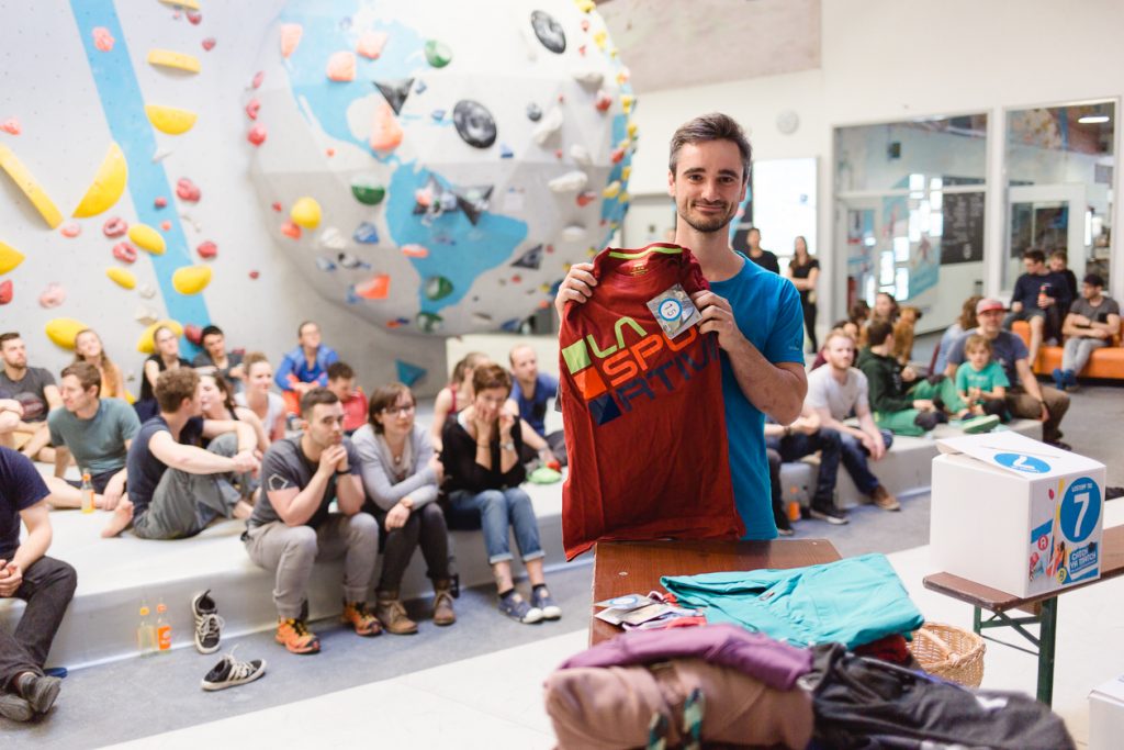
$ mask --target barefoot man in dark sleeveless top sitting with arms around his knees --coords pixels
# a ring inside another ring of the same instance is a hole
[[[160,412],[129,446],[129,497],[102,535],[116,536],[132,521],[140,539],[182,539],[219,516],[247,517],[248,475],[260,466],[254,430],[245,422],[205,419],[199,374],[190,368],[161,372],[155,395]],[[203,439],[210,440],[206,450]]]

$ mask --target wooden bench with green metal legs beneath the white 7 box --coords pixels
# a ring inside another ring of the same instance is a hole
[[[1000,591],[982,584],[940,572],[925,577],[925,588],[951,596],[954,599],[972,605],[972,630],[984,635],[982,631],[994,627],[1010,627],[1030,641],[1036,650],[1023,649],[1017,645],[988,638],[996,643],[1003,643],[1021,651],[1026,651],[1039,659],[1037,699],[1050,705],[1053,699],[1054,642],[1058,636],[1058,596],[1109,578],[1124,576],[1124,526],[1106,528],[1100,542],[1100,578],[1084,584],[1077,584],[1060,590],[1040,594],[1037,596],[1018,597]],[[987,609],[991,617],[982,620],[981,611]],[[1007,613],[1021,609],[1026,616],[1010,616]],[[1039,625],[1035,636],[1025,625]]]

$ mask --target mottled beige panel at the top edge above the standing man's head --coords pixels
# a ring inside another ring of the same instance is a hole
[[[821,0],[601,0],[638,93],[819,67]]]

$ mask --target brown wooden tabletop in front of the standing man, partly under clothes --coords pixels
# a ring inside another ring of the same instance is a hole
[[[803,568],[840,559],[826,539],[774,542],[598,542],[593,546],[593,602],[660,590],[660,576],[694,576],[726,570]],[[589,644],[624,631],[592,616]]]

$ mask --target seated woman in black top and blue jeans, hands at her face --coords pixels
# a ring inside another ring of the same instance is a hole
[[[543,577],[544,552],[538,543],[538,522],[531,498],[519,487],[526,469],[519,462],[518,417],[507,410],[511,378],[495,363],[481,364],[472,373],[472,404],[445,422],[442,463],[448,484],[448,503],[455,512],[479,510],[488,563],[499,593],[499,609],[520,623],[556,620],[562,609],[554,604]],[[515,590],[508,526],[531,578],[531,603]]]

